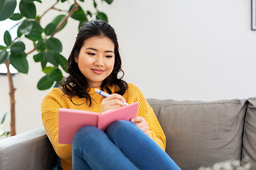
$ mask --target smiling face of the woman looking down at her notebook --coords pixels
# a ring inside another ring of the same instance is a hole
[[[75,57],[75,62],[90,87],[100,87],[114,69],[114,43],[107,37],[88,38],[78,57]]]

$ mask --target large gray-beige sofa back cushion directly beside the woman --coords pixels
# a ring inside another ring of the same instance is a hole
[[[166,135],[166,152],[181,169],[240,160],[246,100],[148,102]]]

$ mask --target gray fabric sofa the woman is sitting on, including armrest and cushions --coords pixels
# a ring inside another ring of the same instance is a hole
[[[166,152],[181,169],[245,156],[256,169],[256,98],[148,101],[166,134]],[[0,170],[48,170],[56,157],[43,127],[0,140]]]

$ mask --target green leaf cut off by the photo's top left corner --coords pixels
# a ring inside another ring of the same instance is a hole
[[[9,18],[16,8],[16,0],[0,0],[0,21]]]

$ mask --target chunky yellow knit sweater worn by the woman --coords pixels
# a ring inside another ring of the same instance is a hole
[[[85,98],[73,97],[73,104],[61,89],[54,88],[48,93],[41,103],[43,126],[46,134],[60,157],[63,170],[72,169],[72,145],[58,144],[58,110],[60,108],[71,108],[84,111],[100,113],[103,97],[95,93],[95,89],[90,89],[90,96],[93,98],[92,105],[86,104]],[[139,102],[137,116],[142,116],[149,123],[149,137],[151,137],[162,149],[166,147],[166,137],[159,125],[153,109],[149,106],[142,92],[133,84],[128,84],[128,89],[123,95],[127,103]]]

